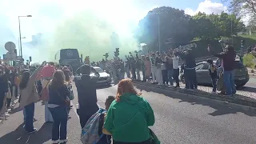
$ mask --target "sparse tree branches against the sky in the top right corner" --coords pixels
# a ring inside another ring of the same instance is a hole
[[[256,0],[223,0],[229,2],[230,11],[237,15],[256,15]]]

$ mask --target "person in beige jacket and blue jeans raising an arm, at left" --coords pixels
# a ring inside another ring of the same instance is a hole
[[[19,84],[20,89],[20,107],[24,107],[25,117],[25,129],[28,134],[34,133],[37,129],[33,126],[34,118],[34,103],[38,102],[39,96],[36,90],[35,82],[38,76],[38,72],[42,69],[45,62],[42,62],[41,66],[38,66],[34,73],[30,76],[29,70],[24,70],[22,73],[22,80]]]

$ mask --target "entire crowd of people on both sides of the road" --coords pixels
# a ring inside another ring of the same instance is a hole
[[[213,82],[213,93],[217,83],[222,82],[222,93],[236,93],[234,86],[233,46],[227,45],[221,54],[215,54],[209,45],[210,54],[218,57],[217,62],[209,59],[209,74]],[[133,86],[132,80],[157,83],[158,85],[179,87],[179,72],[184,70],[186,89],[198,88],[196,62],[193,50],[168,50],[140,55],[126,56],[126,60],[114,58],[100,62],[86,62],[71,77],[70,66],[58,66],[54,62],[42,62],[40,66],[15,68],[2,64],[0,66],[0,114],[6,118],[10,103],[19,98],[19,107],[23,109],[24,128],[28,134],[37,131],[34,128],[35,103],[42,101],[45,105],[45,122],[52,123],[52,143],[67,142],[67,121],[71,109],[70,101],[74,99],[73,82],[78,93],[77,113],[81,130],[86,130],[91,116],[98,113],[96,84],[99,75],[93,74],[91,65],[106,70],[114,82],[118,83],[117,95],[106,98],[102,134],[98,144],[147,144],[152,139],[148,126],[154,125],[154,111],[145,98],[142,98]],[[181,66],[180,66],[181,65]],[[142,71],[142,78],[140,72]],[[127,78],[125,78],[125,74]],[[131,78],[131,79],[130,79]],[[174,85],[174,82],[176,83]],[[134,131],[135,130],[135,131]]]

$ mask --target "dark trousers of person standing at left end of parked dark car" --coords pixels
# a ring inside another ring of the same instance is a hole
[[[198,89],[197,74],[195,72],[195,69],[185,69],[184,75],[185,75],[186,89],[191,89],[191,90]]]

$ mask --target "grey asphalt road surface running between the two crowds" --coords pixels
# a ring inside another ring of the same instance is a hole
[[[117,86],[98,89],[98,105],[104,107],[106,97],[115,95],[116,91]],[[256,143],[256,114],[183,94],[164,95],[142,90],[142,95],[154,109],[156,122],[152,130],[162,144]],[[75,109],[78,98],[76,93],[74,96]],[[70,117],[67,143],[81,144],[81,128],[75,110],[70,111]],[[0,126],[0,144],[50,143],[51,124],[44,124],[44,106],[40,102],[35,107],[34,118],[38,119],[34,127],[39,131],[28,135],[22,128],[22,111],[14,109],[14,114]]]

